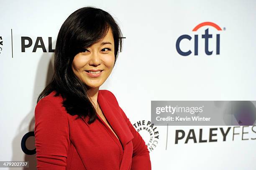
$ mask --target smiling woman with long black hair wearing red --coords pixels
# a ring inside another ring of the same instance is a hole
[[[35,108],[39,170],[151,170],[145,142],[99,87],[122,48],[122,33],[104,10],[85,7],[63,23],[54,75]]]

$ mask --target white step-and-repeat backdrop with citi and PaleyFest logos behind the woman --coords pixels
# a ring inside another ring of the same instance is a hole
[[[85,6],[109,12],[120,25],[123,51],[100,89],[115,94],[148,145],[153,170],[256,168],[253,124],[151,120],[153,101],[256,100],[253,0],[2,0],[0,161],[26,160],[36,169],[36,99],[51,79],[62,23]]]

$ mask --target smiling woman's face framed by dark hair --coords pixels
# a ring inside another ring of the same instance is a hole
[[[92,44],[74,56],[72,70],[89,88],[97,88],[110,75],[114,62],[114,38],[109,28],[107,35],[100,42]]]

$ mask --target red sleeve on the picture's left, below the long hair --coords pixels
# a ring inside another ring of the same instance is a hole
[[[67,114],[50,100],[35,108],[35,146],[38,170],[66,170],[69,148]]]

